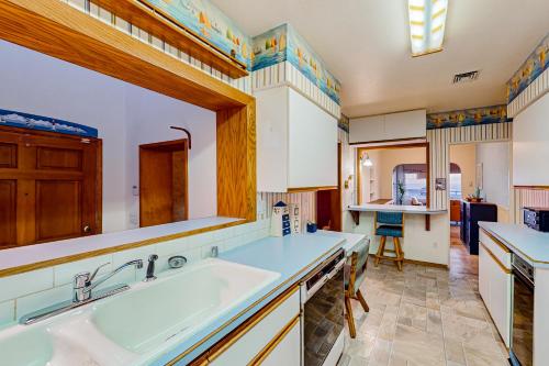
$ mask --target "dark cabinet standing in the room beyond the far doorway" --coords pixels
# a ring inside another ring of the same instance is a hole
[[[479,221],[497,221],[497,206],[461,201],[461,241],[470,254],[479,254]]]

